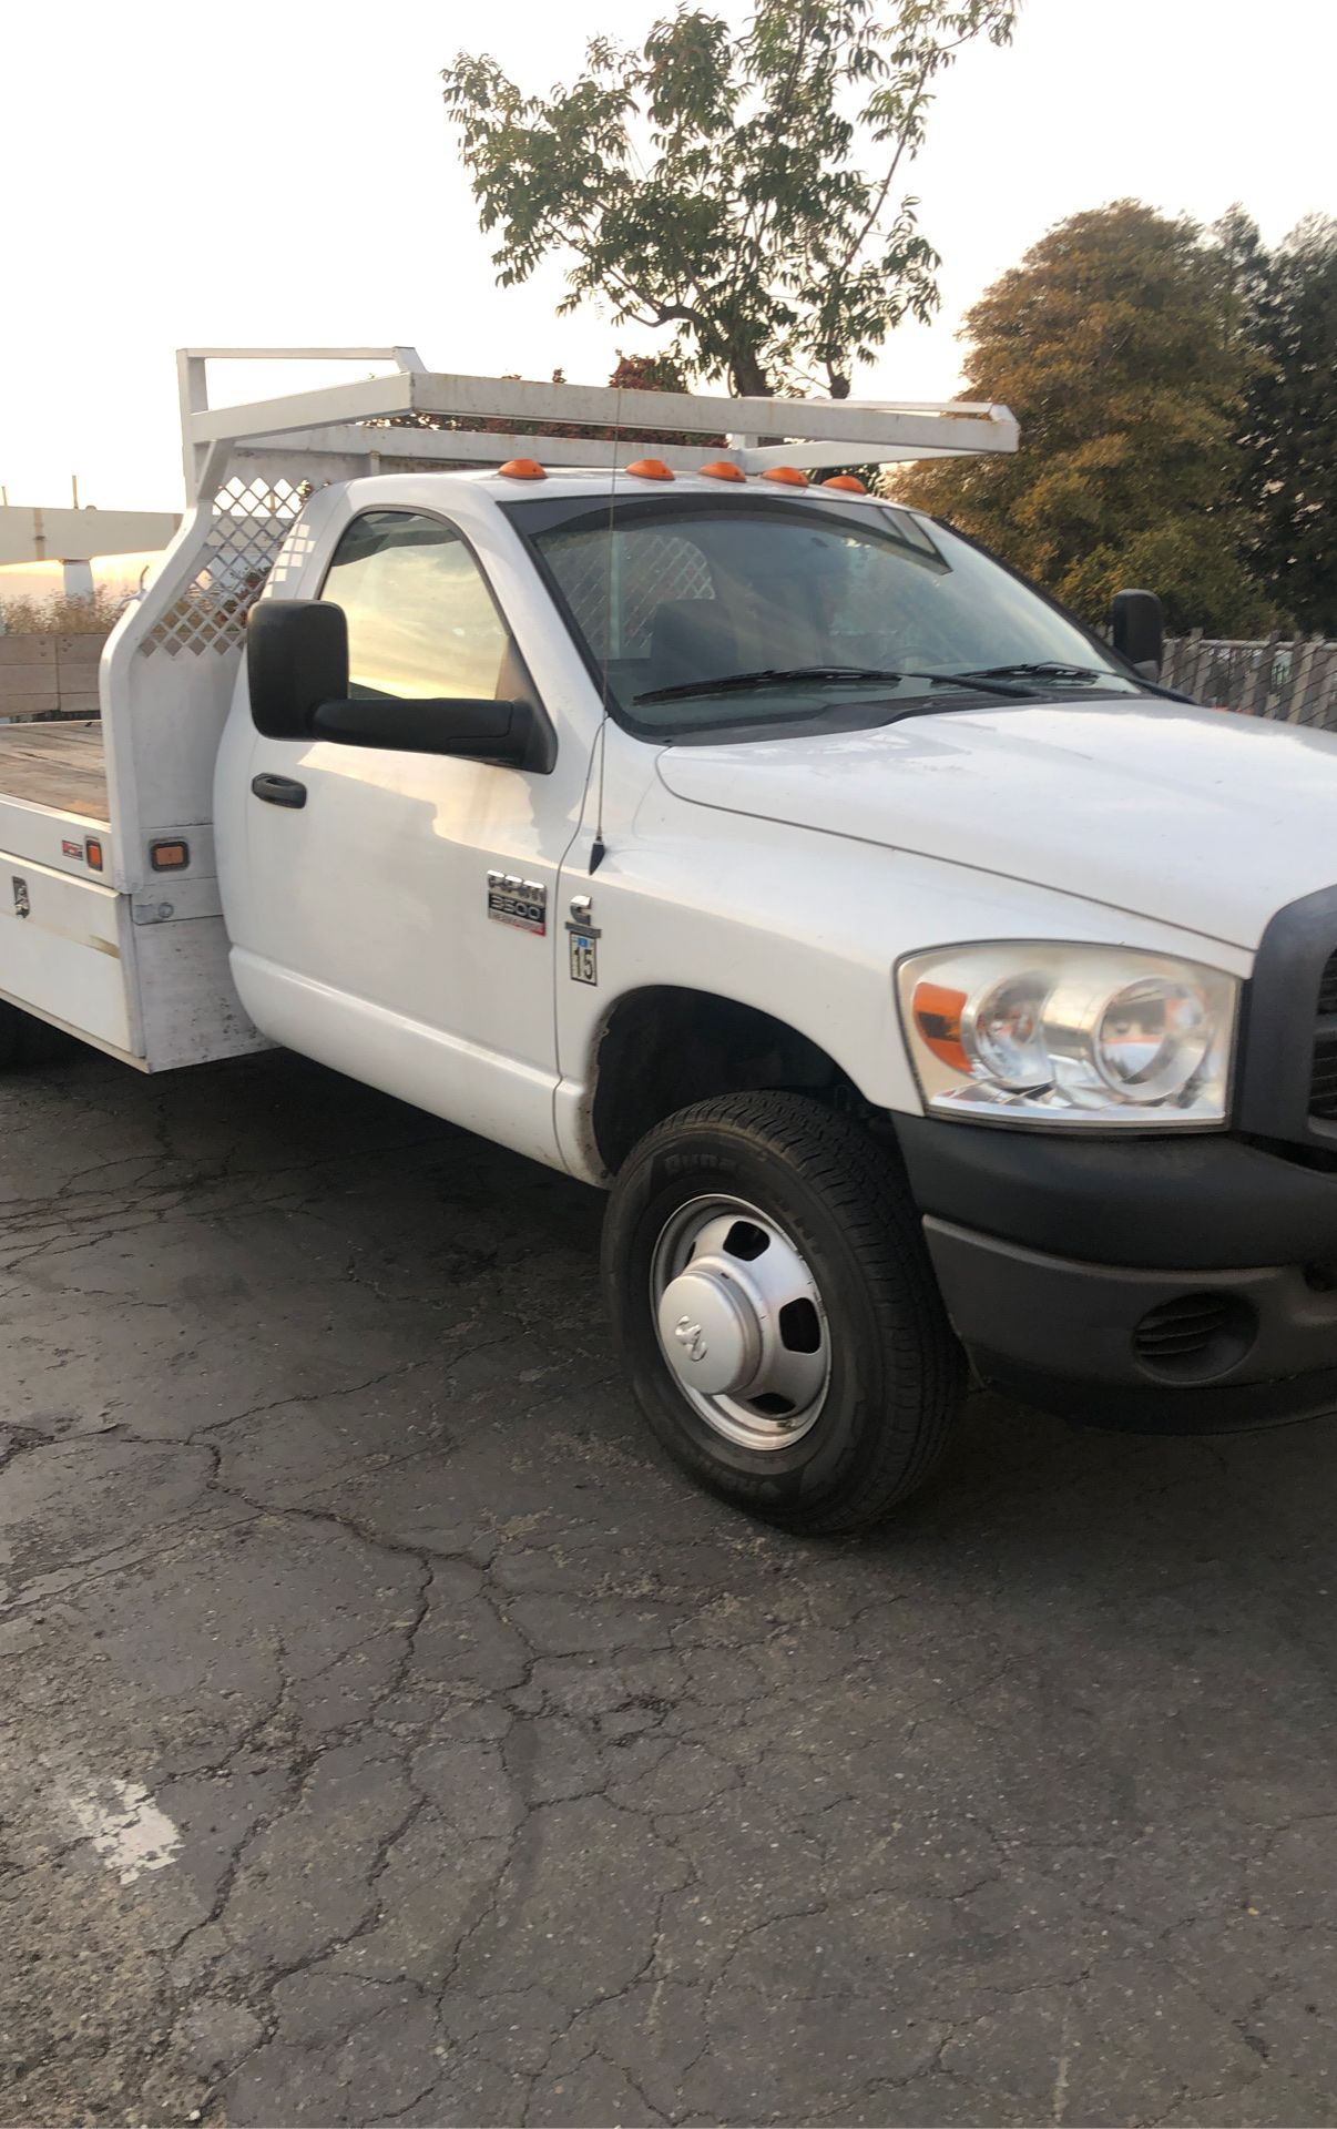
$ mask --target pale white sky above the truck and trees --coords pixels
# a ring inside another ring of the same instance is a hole
[[[720,0],[743,19],[743,0]],[[668,0],[11,0],[0,96],[0,481],[11,502],[175,509],[179,345],[415,343],[430,366],[603,383],[654,334],[494,287],[441,104],[458,47],[526,87]],[[1052,221],[1135,194],[1269,241],[1337,209],[1337,0],[1026,0],[941,87],[909,189],[943,315],[856,392],[947,398],[960,313]],[[330,373],[321,381],[336,381]],[[245,379],[290,390],[285,373]]]

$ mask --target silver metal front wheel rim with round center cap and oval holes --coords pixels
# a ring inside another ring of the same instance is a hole
[[[649,1265],[660,1352],[694,1409],[749,1450],[815,1424],[830,1382],[822,1294],[790,1237],[743,1199],[681,1205]]]

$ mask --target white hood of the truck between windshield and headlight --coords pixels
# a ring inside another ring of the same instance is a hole
[[[918,852],[1239,947],[1337,884],[1337,737],[1179,703],[1026,703],[666,747],[690,805]]]

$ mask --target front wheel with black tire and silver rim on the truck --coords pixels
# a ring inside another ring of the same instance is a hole
[[[796,1094],[726,1094],[617,1175],[603,1277],[668,1454],[790,1531],[856,1531],[937,1463],[964,1356],[894,1158]]]

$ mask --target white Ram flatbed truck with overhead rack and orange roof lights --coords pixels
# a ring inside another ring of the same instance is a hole
[[[1107,647],[822,479],[1005,409],[411,351],[211,409],[207,353],[100,726],[0,732],[11,1060],[285,1043],[607,1188],[651,1429],[792,1529],[920,1484],[967,1365],[1337,1405],[1337,745],[1160,690],[1148,594]]]

